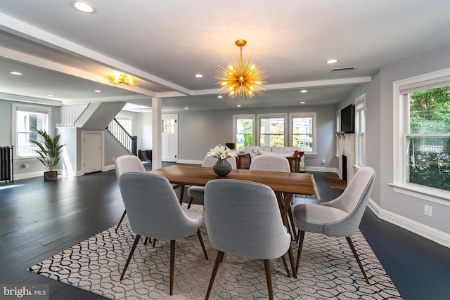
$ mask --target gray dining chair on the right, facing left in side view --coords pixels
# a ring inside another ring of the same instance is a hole
[[[366,282],[370,284],[351,236],[355,235],[359,228],[368,198],[371,196],[374,180],[375,171],[371,167],[363,167],[356,172],[347,188],[335,200],[320,204],[298,204],[295,207],[293,219],[300,235],[297,270],[305,232],[321,233],[330,237],[346,237]]]

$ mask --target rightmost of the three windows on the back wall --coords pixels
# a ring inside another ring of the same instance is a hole
[[[315,152],[316,113],[290,113],[290,145],[304,152]]]

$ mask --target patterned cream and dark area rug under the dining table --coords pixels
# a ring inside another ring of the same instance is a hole
[[[203,211],[203,206],[193,205]],[[191,208],[192,208],[191,207]],[[169,296],[169,242],[155,248],[143,241],[134,252],[124,280],[120,274],[134,241],[128,221],[98,233],[30,271],[109,299],[205,299],[216,250],[200,228],[210,256],[205,259],[198,237],[176,242],[174,295]],[[401,299],[364,236],[353,237],[371,285],[364,281],[345,238],[306,233],[298,278],[288,278],[281,259],[271,261],[275,299]],[[293,244],[295,254],[297,244]],[[288,259],[288,256],[286,256]],[[266,299],[264,263],[226,254],[210,299]]]

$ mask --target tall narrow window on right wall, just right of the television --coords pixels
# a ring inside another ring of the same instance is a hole
[[[355,100],[355,162],[363,167],[366,164],[366,95]]]

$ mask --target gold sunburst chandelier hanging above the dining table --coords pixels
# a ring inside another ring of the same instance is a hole
[[[244,39],[236,41],[240,47],[240,58],[230,63],[228,67],[219,67],[216,75],[216,84],[220,85],[220,95],[228,95],[231,98],[252,98],[256,94],[262,95],[265,91],[262,84],[266,84],[266,70],[257,67],[248,60],[242,60],[242,47],[247,44]]]

